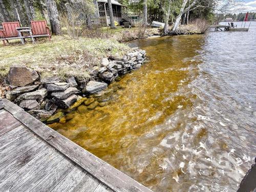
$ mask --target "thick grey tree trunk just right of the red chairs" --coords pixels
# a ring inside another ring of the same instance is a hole
[[[56,2],[54,0],[46,0],[46,7],[48,11],[52,33],[54,33],[55,35],[59,35],[60,34],[59,13],[57,10]]]

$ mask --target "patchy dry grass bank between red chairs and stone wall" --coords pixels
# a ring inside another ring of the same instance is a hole
[[[87,78],[90,68],[99,66],[103,57],[122,56],[129,50],[113,38],[52,36],[52,41],[40,38],[32,44],[27,40],[24,46],[12,40],[10,45],[0,46],[0,78],[7,76],[12,65],[26,65],[42,76]]]

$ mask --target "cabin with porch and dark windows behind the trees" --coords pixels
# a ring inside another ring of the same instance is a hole
[[[103,26],[110,25],[110,12],[108,6],[108,0],[96,0],[94,1],[96,7],[96,13],[92,19],[92,23],[96,23],[96,20],[99,20],[100,24]],[[128,15],[128,9],[126,6],[118,3],[115,0],[111,0],[113,16],[115,22],[118,25],[123,25],[123,23],[129,23],[131,26],[134,26],[138,22],[138,16],[133,15],[133,18]]]

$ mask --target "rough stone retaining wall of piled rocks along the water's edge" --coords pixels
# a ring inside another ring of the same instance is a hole
[[[88,109],[102,105],[87,97],[100,94],[117,77],[139,69],[145,62],[145,54],[144,50],[133,48],[123,57],[103,58],[101,66],[90,71],[91,77],[82,81],[74,77],[41,78],[37,71],[26,66],[13,66],[6,80],[10,91],[5,98],[41,121],[54,122],[63,116],[59,109],[75,109],[83,102]]]

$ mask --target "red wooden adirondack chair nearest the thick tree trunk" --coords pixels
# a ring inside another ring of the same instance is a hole
[[[33,37],[49,37],[51,40],[51,34],[49,31],[49,27],[45,20],[32,20],[31,21],[31,29]]]

